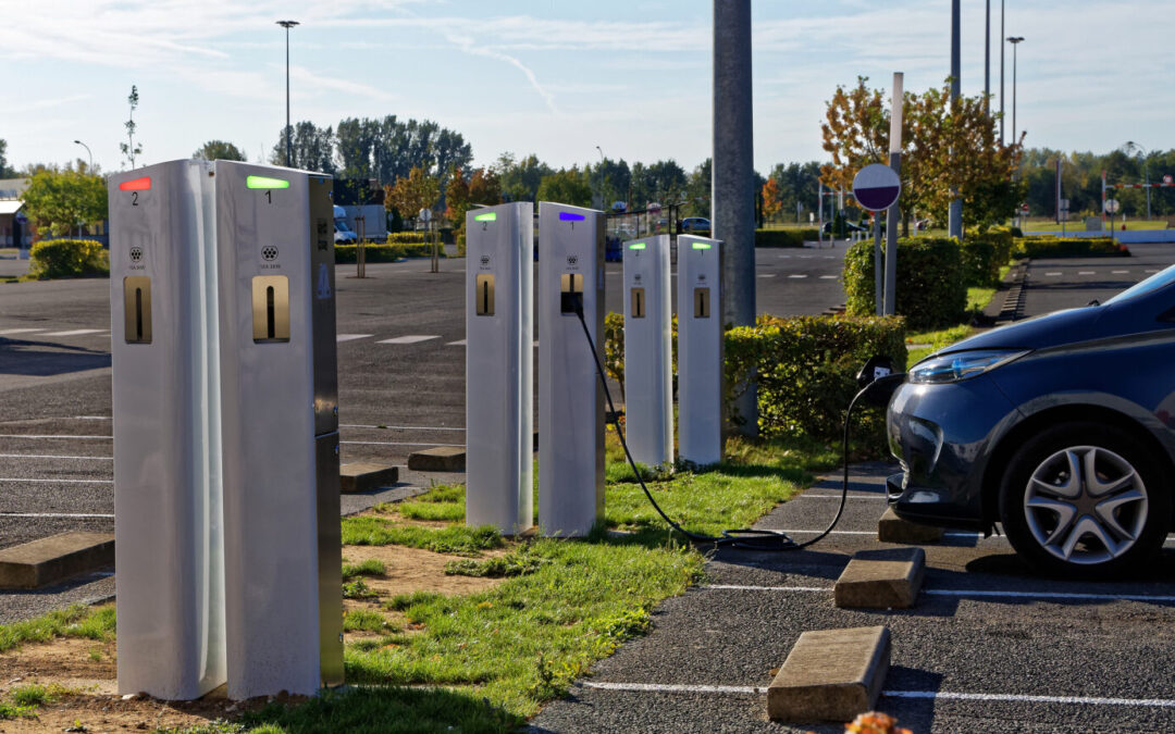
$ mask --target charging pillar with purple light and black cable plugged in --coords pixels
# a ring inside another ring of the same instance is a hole
[[[579,537],[604,513],[604,213],[538,204],[538,525]]]

